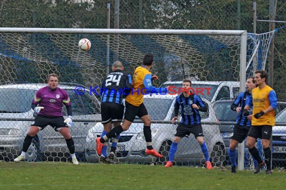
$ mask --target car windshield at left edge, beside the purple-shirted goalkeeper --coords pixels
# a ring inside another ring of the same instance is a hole
[[[0,89],[0,112],[23,113],[31,110],[36,90]]]

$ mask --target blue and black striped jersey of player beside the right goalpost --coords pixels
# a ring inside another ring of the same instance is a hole
[[[251,126],[251,121],[247,119],[247,116],[244,116],[242,114],[243,108],[245,106],[245,100],[247,98],[251,98],[252,94],[249,93],[248,91],[240,92],[234,102],[232,103],[232,107],[242,107],[241,110],[239,111],[237,118],[236,118],[236,124],[239,124],[241,126]],[[233,109],[235,110],[235,109]],[[252,107],[249,110],[249,114],[252,114]]]

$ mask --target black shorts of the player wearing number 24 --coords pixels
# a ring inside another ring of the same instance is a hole
[[[101,123],[106,124],[110,120],[112,122],[121,121],[124,114],[124,105],[119,103],[104,102],[100,104]]]

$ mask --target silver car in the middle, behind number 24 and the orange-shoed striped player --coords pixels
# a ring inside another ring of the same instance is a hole
[[[152,123],[152,141],[153,147],[163,155],[157,158],[145,153],[146,141],[143,133],[143,123],[133,122],[130,128],[121,133],[117,144],[116,161],[122,162],[140,162],[159,164],[169,160],[169,149],[177,125],[171,123],[174,116],[174,103],[176,95],[145,95],[144,104],[147,107],[152,120],[158,120]],[[216,121],[214,110],[211,103],[203,99],[208,107],[207,112],[200,112],[203,121]],[[161,121],[160,121],[161,120]],[[163,122],[162,122],[163,120]],[[170,121],[170,123],[168,123]],[[225,146],[219,132],[219,126],[216,124],[203,124],[205,141],[208,146],[209,155],[213,165],[221,166],[225,159]],[[85,157],[87,161],[98,162],[95,138],[99,137],[103,129],[101,123],[96,123],[92,127],[85,142]],[[174,161],[177,164],[204,164],[204,156],[201,147],[194,135],[188,138],[184,137],[178,145]]]

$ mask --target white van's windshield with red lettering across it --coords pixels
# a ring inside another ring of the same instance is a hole
[[[163,87],[167,86],[176,86],[176,88],[173,88],[177,91],[178,93],[178,88],[182,87],[181,83],[177,84],[163,84]],[[199,95],[201,98],[205,98],[209,101],[212,101],[212,98],[218,88],[218,85],[215,84],[192,84],[191,86],[195,90],[195,94]],[[208,89],[207,89],[208,88]]]

